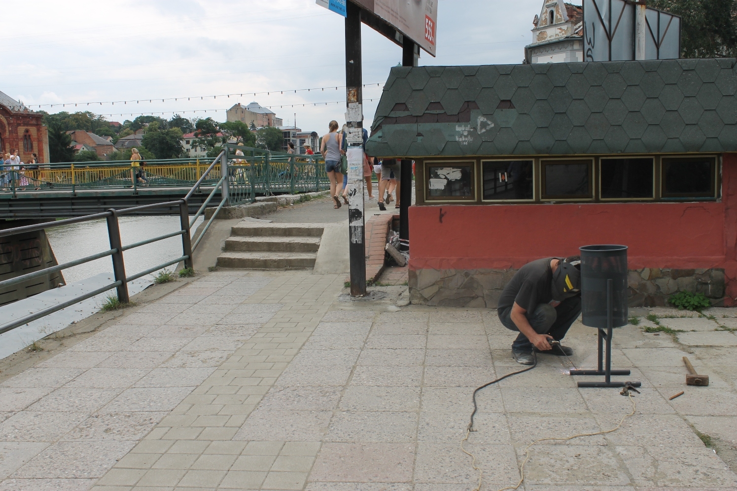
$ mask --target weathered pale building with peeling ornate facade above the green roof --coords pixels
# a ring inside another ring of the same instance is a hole
[[[579,5],[544,0],[532,24],[532,43],[525,46],[525,63],[564,63],[584,60],[584,13]]]

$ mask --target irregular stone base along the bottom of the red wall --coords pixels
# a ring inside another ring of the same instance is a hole
[[[496,308],[516,269],[416,269],[409,272],[410,302],[444,307]],[[627,277],[630,307],[664,307],[677,292],[701,292],[724,303],[724,269],[633,269]]]

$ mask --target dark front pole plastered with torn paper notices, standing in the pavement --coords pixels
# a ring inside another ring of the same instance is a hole
[[[351,295],[366,294],[366,245],[363,218],[363,75],[361,71],[361,10],[346,1],[346,158],[348,160],[348,227]]]

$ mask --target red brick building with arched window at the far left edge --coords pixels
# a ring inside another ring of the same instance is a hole
[[[35,113],[5,93],[0,92],[0,151],[18,149],[23,162],[38,155],[39,162],[49,162],[49,133],[43,126],[43,114]]]

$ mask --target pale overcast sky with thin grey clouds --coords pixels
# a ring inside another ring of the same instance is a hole
[[[521,63],[541,7],[540,0],[440,0],[437,57],[423,51],[420,65]],[[344,103],[313,105],[345,99],[343,88],[335,90],[345,85],[343,17],[315,0],[37,0],[30,13],[25,2],[4,2],[3,17],[15,21],[0,42],[0,90],[27,105],[72,103],[42,109],[112,113],[107,119],[121,122],[152,111],[225,121],[228,107],[256,100],[284,124],[296,113],[303,130],[322,133],[331,119],[344,119]],[[401,60],[399,46],[363,26],[364,83],[383,83]],[[253,96],[262,91],[271,93]],[[212,98],[223,93],[243,96]],[[380,94],[377,85],[364,89],[366,126]],[[161,102],[170,97],[184,99]],[[73,105],[126,99],[141,102]]]

